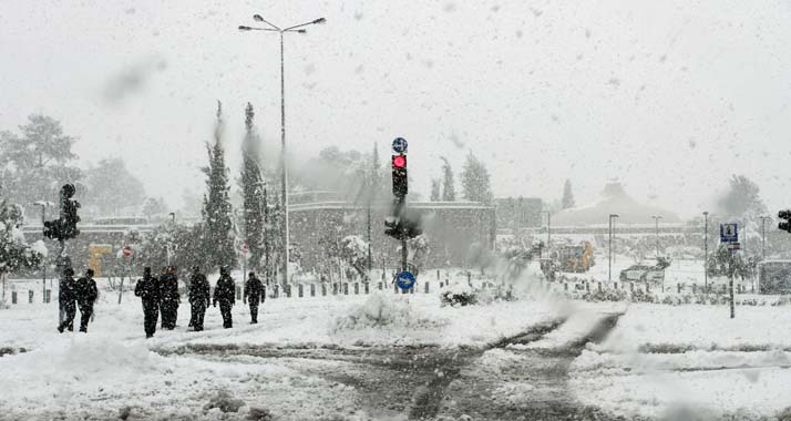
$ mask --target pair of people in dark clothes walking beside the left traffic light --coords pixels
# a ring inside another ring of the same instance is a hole
[[[93,269],[85,270],[85,276],[74,280],[74,269],[66,268],[61,278],[58,301],[61,308],[58,331],[74,331],[74,317],[80,308],[80,331],[88,332],[88,322],[93,315],[93,304],[99,298],[96,281],[93,279]]]

